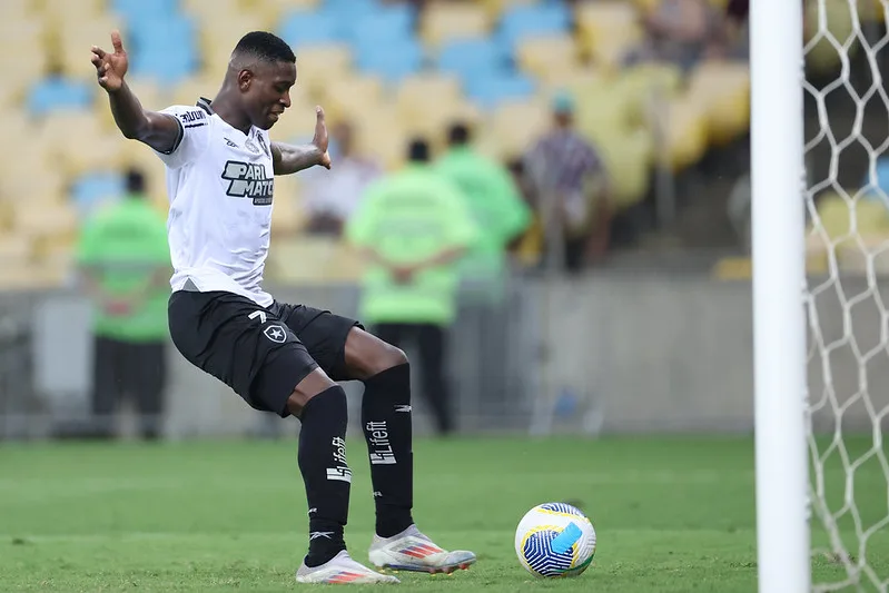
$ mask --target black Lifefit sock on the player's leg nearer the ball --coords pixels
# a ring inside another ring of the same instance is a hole
[[[364,382],[362,427],[371,455],[376,533],[391,537],[414,522],[411,365],[398,365]]]

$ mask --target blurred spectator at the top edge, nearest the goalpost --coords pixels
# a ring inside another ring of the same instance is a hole
[[[661,0],[642,20],[645,39],[628,65],[665,61],[690,70],[704,58],[725,55],[724,14],[707,0]]]

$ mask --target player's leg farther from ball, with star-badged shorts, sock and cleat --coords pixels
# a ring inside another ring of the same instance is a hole
[[[346,464],[346,395],[273,312],[227,293],[176,293],[170,336],[191,364],[226,383],[253,408],[302,422],[299,471],[309,546],[297,581],[387,582],[346,553],[352,472]]]

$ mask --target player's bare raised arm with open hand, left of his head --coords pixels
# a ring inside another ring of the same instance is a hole
[[[96,67],[99,86],[108,92],[117,127],[125,137],[145,142],[155,150],[171,150],[181,134],[179,122],[172,116],[142,109],[139,99],[124,80],[129,60],[119,32],[111,33],[111,45],[113,53],[92,46],[92,66]]]

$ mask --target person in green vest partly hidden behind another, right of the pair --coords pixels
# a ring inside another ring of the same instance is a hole
[[[510,250],[517,247],[532,223],[532,213],[510,170],[472,148],[468,126],[454,123],[448,149],[436,170],[457,186],[478,228],[480,240],[462,261],[461,340],[476,352],[466,353],[460,389],[484,409],[502,409],[520,393],[508,373],[511,340],[507,302]]]

